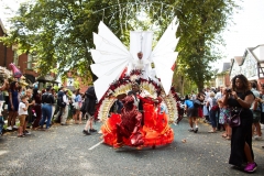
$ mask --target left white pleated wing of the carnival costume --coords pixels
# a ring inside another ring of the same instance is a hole
[[[113,80],[118,79],[128,64],[133,61],[133,57],[103,22],[100,22],[98,29],[98,34],[94,33],[96,50],[91,50],[95,62],[91,70],[98,77],[94,86],[99,101]]]

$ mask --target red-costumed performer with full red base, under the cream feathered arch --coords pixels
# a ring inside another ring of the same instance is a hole
[[[134,84],[136,85],[136,84]],[[132,86],[133,87],[133,86]],[[106,123],[101,127],[105,143],[119,148],[128,146],[156,146],[173,142],[174,133],[168,125],[168,118],[162,111],[162,98],[136,95],[142,102],[142,110],[138,110],[133,91],[122,99],[123,109],[121,114],[111,113]],[[144,117],[144,118],[143,118]],[[144,122],[142,122],[144,121]]]

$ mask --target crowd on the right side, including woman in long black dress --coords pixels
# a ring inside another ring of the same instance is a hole
[[[237,75],[229,87],[206,88],[198,94],[193,91],[184,100],[190,127],[188,131],[198,132],[198,118],[204,118],[204,122],[210,124],[208,133],[223,131],[221,136],[231,140],[229,163],[243,167],[248,173],[253,173],[257,167],[252,141],[263,138],[264,85],[260,88],[256,81]],[[238,119],[235,125],[231,123],[234,118]]]

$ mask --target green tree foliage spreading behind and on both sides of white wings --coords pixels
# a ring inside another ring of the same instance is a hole
[[[92,32],[101,20],[129,46],[130,30],[153,30],[158,40],[177,15],[177,70],[202,88],[211,77],[210,62],[220,57],[213,45],[221,43],[219,34],[235,7],[233,0],[35,0],[20,7],[11,20],[12,31],[2,40],[37,55],[43,75],[70,70],[88,78]]]

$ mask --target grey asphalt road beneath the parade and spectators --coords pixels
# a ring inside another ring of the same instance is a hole
[[[100,134],[82,135],[84,124],[53,125],[51,131],[16,132],[0,138],[0,175],[4,176],[226,176],[248,175],[228,164],[230,141],[221,133],[209,134],[205,123],[197,134],[188,132],[187,120],[172,125],[175,141],[155,150],[118,151],[101,144]],[[99,129],[100,123],[96,124]],[[186,143],[182,140],[186,139]],[[254,175],[264,175],[264,141],[254,141]]]

